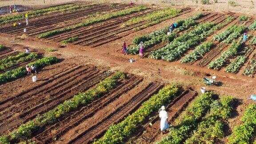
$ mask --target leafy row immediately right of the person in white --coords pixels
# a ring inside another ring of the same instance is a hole
[[[200,120],[210,109],[213,102],[213,93],[206,92],[198,97],[176,120],[177,125],[169,128],[169,134],[157,144],[181,144],[197,126]]]

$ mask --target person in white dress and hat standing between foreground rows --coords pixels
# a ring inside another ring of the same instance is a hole
[[[164,134],[165,130],[169,128],[168,124],[168,113],[165,111],[165,107],[161,107],[161,111],[159,112],[159,117],[161,118],[160,121],[160,130],[162,134]]]

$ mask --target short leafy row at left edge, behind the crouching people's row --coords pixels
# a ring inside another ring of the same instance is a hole
[[[29,60],[34,60],[39,58],[40,55],[36,54],[36,53],[25,53],[25,52],[20,52],[18,55],[16,56],[8,56],[2,60],[0,60],[0,70],[6,70],[8,68],[13,67],[16,64],[19,63],[24,63],[26,61]]]

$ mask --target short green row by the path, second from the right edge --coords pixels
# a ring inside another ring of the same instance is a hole
[[[228,65],[228,67],[226,68],[225,72],[233,72],[233,73],[238,72],[239,69],[244,64],[246,58],[247,58],[246,56],[237,56],[236,60]]]

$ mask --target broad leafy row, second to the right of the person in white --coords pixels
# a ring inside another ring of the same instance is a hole
[[[231,117],[234,98],[224,96],[215,100],[185,144],[214,144],[224,138],[224,124]]]

